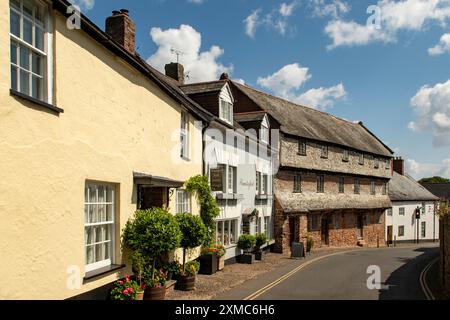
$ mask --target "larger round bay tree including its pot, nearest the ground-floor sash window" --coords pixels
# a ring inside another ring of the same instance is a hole
[[[142,265],[145,300],[164,299],[166,287],[161,274],[155,268],[158,258],[179,247],[181,231],[173,215],[162,208],[138,210],[123,232],[123,243],[129,247]]]

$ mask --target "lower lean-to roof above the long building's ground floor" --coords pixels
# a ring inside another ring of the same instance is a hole
[[[285,213],[301,213],[342,209],[388,209],[392,207],[388,196],[292,193],[275,191]]]

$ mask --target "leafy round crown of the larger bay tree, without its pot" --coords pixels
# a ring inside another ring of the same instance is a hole
[[[152,279],[156,260],[177,249],[181,237],[177,220],[162,208],[136,211],[123,230],[124,245],[134,252],[134,257],[141,257],[139,272],[142,272],[142,265],[150,263]]]

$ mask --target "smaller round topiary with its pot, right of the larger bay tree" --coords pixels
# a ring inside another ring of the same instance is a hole
[[[182,274],[179,276],[175,289],[190,291],[195,289],[195,276],[198,269],[194,271],[193,262],[186,265],[186,251],[200,246],[205,241],[207,230],[200,217],[190,213],[181,213],[176,215],[176,220],[181,231],[180,246],[183,248],[183,267]],[[197,265],[195,265],[197,266]]]

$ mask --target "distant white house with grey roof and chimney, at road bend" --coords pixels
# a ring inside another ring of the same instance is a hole
[[[386,241],[435,241],[439,238],[439,200],[404,172],[404,160],[394,159],[394,174],[389,184],[392,208],[386,210]],[[416,219],[416,210],[420,219]]]

